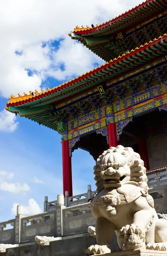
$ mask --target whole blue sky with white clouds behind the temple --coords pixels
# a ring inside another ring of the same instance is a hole
[[[62,193],[61,135],[4,111],[8,98],[52,88],[102,64],[68,33],[76,25],[105,22],[139,3],[0,1],[0,221],[14,218],[17,204],[25,206],[25,215],[35,214],[43,210],[45,195],[52,201]],[[86,192],[88,184],[96,189],[94,163],[88,152],[74,151],[74,195]]]

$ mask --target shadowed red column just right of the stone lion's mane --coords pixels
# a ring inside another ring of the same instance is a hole
[[[150,169],[149,160],[148,160],[148,152],[147,152],[147,142],[146,139],[138,140],[139,146],[139,154],[141,159],[144,161],[144,166],[147,170]]]

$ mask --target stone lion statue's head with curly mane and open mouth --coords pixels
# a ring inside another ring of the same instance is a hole
[[[140,155],[133,148],[122,145],[110,147],[97,159],[94,166],[97,192],[124,184],[140,186],[148,191],[146,169]]]

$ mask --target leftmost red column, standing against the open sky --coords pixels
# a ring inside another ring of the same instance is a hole
[[[62,140],[62,176],[63,176],[63,194],[68,191],[68,196],[73,195],[71,157],[69,155],[69,141]]]

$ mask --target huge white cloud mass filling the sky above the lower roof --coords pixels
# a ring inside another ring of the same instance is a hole
[[[139,3],[140,0],[85,0],[83,5],[78,0],[1,0],[1,95],[17,96],[35,88],[39,90],[48,75],[68,79],[85,73],[98,58],[72,41],[68,33],[76,25],[105,22]],[[56,52],[51,41],[63,38]],[[65,65],[64,71],[61,71],[62,65]]]

